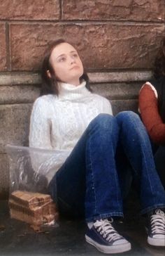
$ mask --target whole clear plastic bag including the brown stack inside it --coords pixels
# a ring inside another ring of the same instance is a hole
[[[10,217],[33,225],[54,225],[58,218],[48,184],[69,155],[24,146],[6,146],[10,168]]]

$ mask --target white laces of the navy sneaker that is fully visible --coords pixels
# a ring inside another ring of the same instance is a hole
[[[111,225],[112,221],[108,221],[108,219],[100,219],[94,222],[94,226],[96,227],[97,231],[101,235],[103,235],[103,238],[106,238],[106,241],[116,241],[117,239],[121,239],[122,236],[120,236],[117,231],[115,231],[114,227]]]

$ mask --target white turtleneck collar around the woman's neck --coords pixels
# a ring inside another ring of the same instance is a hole
[[[79,100],[85,96],[89,96],[91,92],[85,87],[86,82],[83,81],[78,86],[73,84],[66,84],[64,82],[59,82],[59,98],[65,100]]]

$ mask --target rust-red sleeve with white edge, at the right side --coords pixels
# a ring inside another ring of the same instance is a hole
[[[139,92],[138,108],[152,141],[165,143],[165,124],[159,115],[155,92],[152,84],[145,83]]]

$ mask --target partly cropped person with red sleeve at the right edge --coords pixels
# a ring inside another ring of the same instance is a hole
[[[154,79],[139,93],[139,110],[154,145],[155,165],[165,189],[165,37],[155,58]]]

